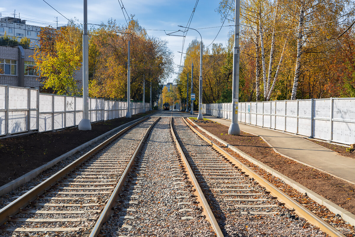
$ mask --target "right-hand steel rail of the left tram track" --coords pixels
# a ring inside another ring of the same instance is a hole
[[[155,120],[154,123],[152,123],[152,125],[149,126],[146,133],[144,134],[142,140],[140,141],[139,145],[137,146],[135,152],[133,153],[131,160],[129,161],[128,165],[126,166],[125,171],[122,173],[122,176],[121,176],[120,180],[118,181],[115,189],[113,190],[109,200],[107,201],[104,210],[101,212],[89,237],[98,236],[100,233],[100,230],[101,230],[101,226],[109,219],[109,216],[112,214],[113,208],[117,205],[118,195],[120,194],[122,188],[124,187],[127,177],[132,169],[132,166],[134,165],[134,162],[136,160],[138,152],[140,151],[140,149],[143,145],[143,142],[146,140],[147,136],[149,135],[149,132],[151,131],[153,126],[158,122],[159,119],[160,119],[160,117],[158,117],[157,120]]]

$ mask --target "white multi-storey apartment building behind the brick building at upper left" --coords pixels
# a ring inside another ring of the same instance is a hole
[[[16,17],[2,17],[0,19],[0,36],[3,36],[6,32],[8,36],[21,38],[27,37],[31,40],[30,47],[34,47],[38,42],[39,32],[41,27],[27,25],[26,20]]]

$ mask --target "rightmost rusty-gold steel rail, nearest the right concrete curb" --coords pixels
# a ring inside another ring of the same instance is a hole
[[[209,140],[206,136],[200,133],[197,129],[193,128],[191,124],[189,124],[185,118],[182,118],[184,122],[189,126],[189,128],[194,131],[198,136],[200,136],[203,140],[205,140],[209,145],[211,145],[214,149],[224,155],[229,159],[234,165],[238,166],[242,171],[246,174],[249,174],[251,178],[254,178],[261,186],[265,187],[271,195],[277,197],[277,199],[284,203],[287,208],[293,208],[297,215],[306,219],[312,225],[317,226],[320,230],[327,233],[332,237],[346,237],[342,232],[338,231],[334,226],[330,225],[326,221],[324,221],[321,217],[314,214],[312,211],[308,210],[305,206],[291,198],[289,195],[284,193],[282,190],[277,188],[275,185],[264,179],[260,174],[254,172],[251,168],[247,167],[244,163],[237,160],[234,156],[232,156],[227,151],[223,150],[213,141]],[[191,120],[190,120],[191,121]]]

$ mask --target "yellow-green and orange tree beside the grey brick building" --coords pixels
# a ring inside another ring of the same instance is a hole
[[[81,67],[82,32],[75,25],[68,25],[59,31],[46,27],[39,35],[39,45],[33,59],[35,69],[40,70],[44,88],[51,88],[59,95],[80,95],[82,88],[74,79]]]

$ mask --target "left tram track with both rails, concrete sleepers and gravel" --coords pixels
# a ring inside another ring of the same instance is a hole
[[[0,210],[2,235],[97,236],[158,120],[132,124],[8,203]]]

